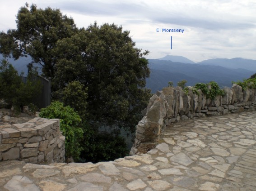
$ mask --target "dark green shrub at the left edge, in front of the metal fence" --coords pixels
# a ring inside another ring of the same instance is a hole
[[[0,65],[0,99],[4,99],[19,112],[23,106],[36,103],[36,98],[42,92],[42,84],[33,79],[34,73],[29,73],[26,84],[14,67],[6,60]]]

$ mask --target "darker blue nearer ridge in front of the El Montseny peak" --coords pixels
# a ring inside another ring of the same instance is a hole
[[[220,87],[232,86],[232,81],[249,78],[256,71],[246,69],[232,69],[212,65],[186,64],[166,60],[149,59],[151,76],[147,79],[147,88],[155,93],[157,90],[168,86],[172,81],[174,86],[180,80],[187,80],[186,85],[192,86],[196,83],[209,83],[216,81]]]

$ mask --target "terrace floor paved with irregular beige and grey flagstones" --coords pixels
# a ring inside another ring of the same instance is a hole
[[[0,191],[255,191],[256,112],[182,121],[158,146],[97,164],[0,163]]]

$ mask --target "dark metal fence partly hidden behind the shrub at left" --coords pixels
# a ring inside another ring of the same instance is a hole
[[[23,83],[27,83],[28,78],[27,77],[20,77]],[[35,76],[32,78],[33,80],[39,80],[42,84],[42,93],[39,95],[38,98],[36,98],[37,107],[39,109],[43,107],[47,107],[51,104],[51,78],[47,80],[46,78],[42,76]]]

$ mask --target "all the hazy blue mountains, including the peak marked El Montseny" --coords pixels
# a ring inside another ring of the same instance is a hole
[[[2,58],[0,54],[0,59]],[[31,62],[31,58],[22,57],[17,61],[8,58],[8,60],[19,74],[23,71],[24,76],[27,75],[27,64]],[[177,82],[183,79],[187,80],[186,85],[189,86],[216,81],[220,87],[231,87],[232,81],[247,79],[256,73],[256,60],[216,58],[195,63],[182,56],[167,55],[159,59],[149,59],[149,68],[151,75],[146,79],[146,87],[155,93],[168,86],[169,81],[176,86]]]

